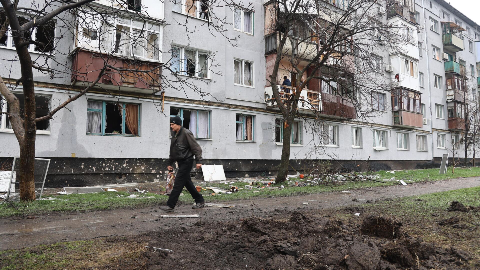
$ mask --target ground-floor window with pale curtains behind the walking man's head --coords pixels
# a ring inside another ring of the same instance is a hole
[[[184,128],[190,130],[197,139],[210,138],[210,112],[207,110],[187,110],[170,108],[170,117],[179,116]],[[170,130],[170,136],[173,131]]]

